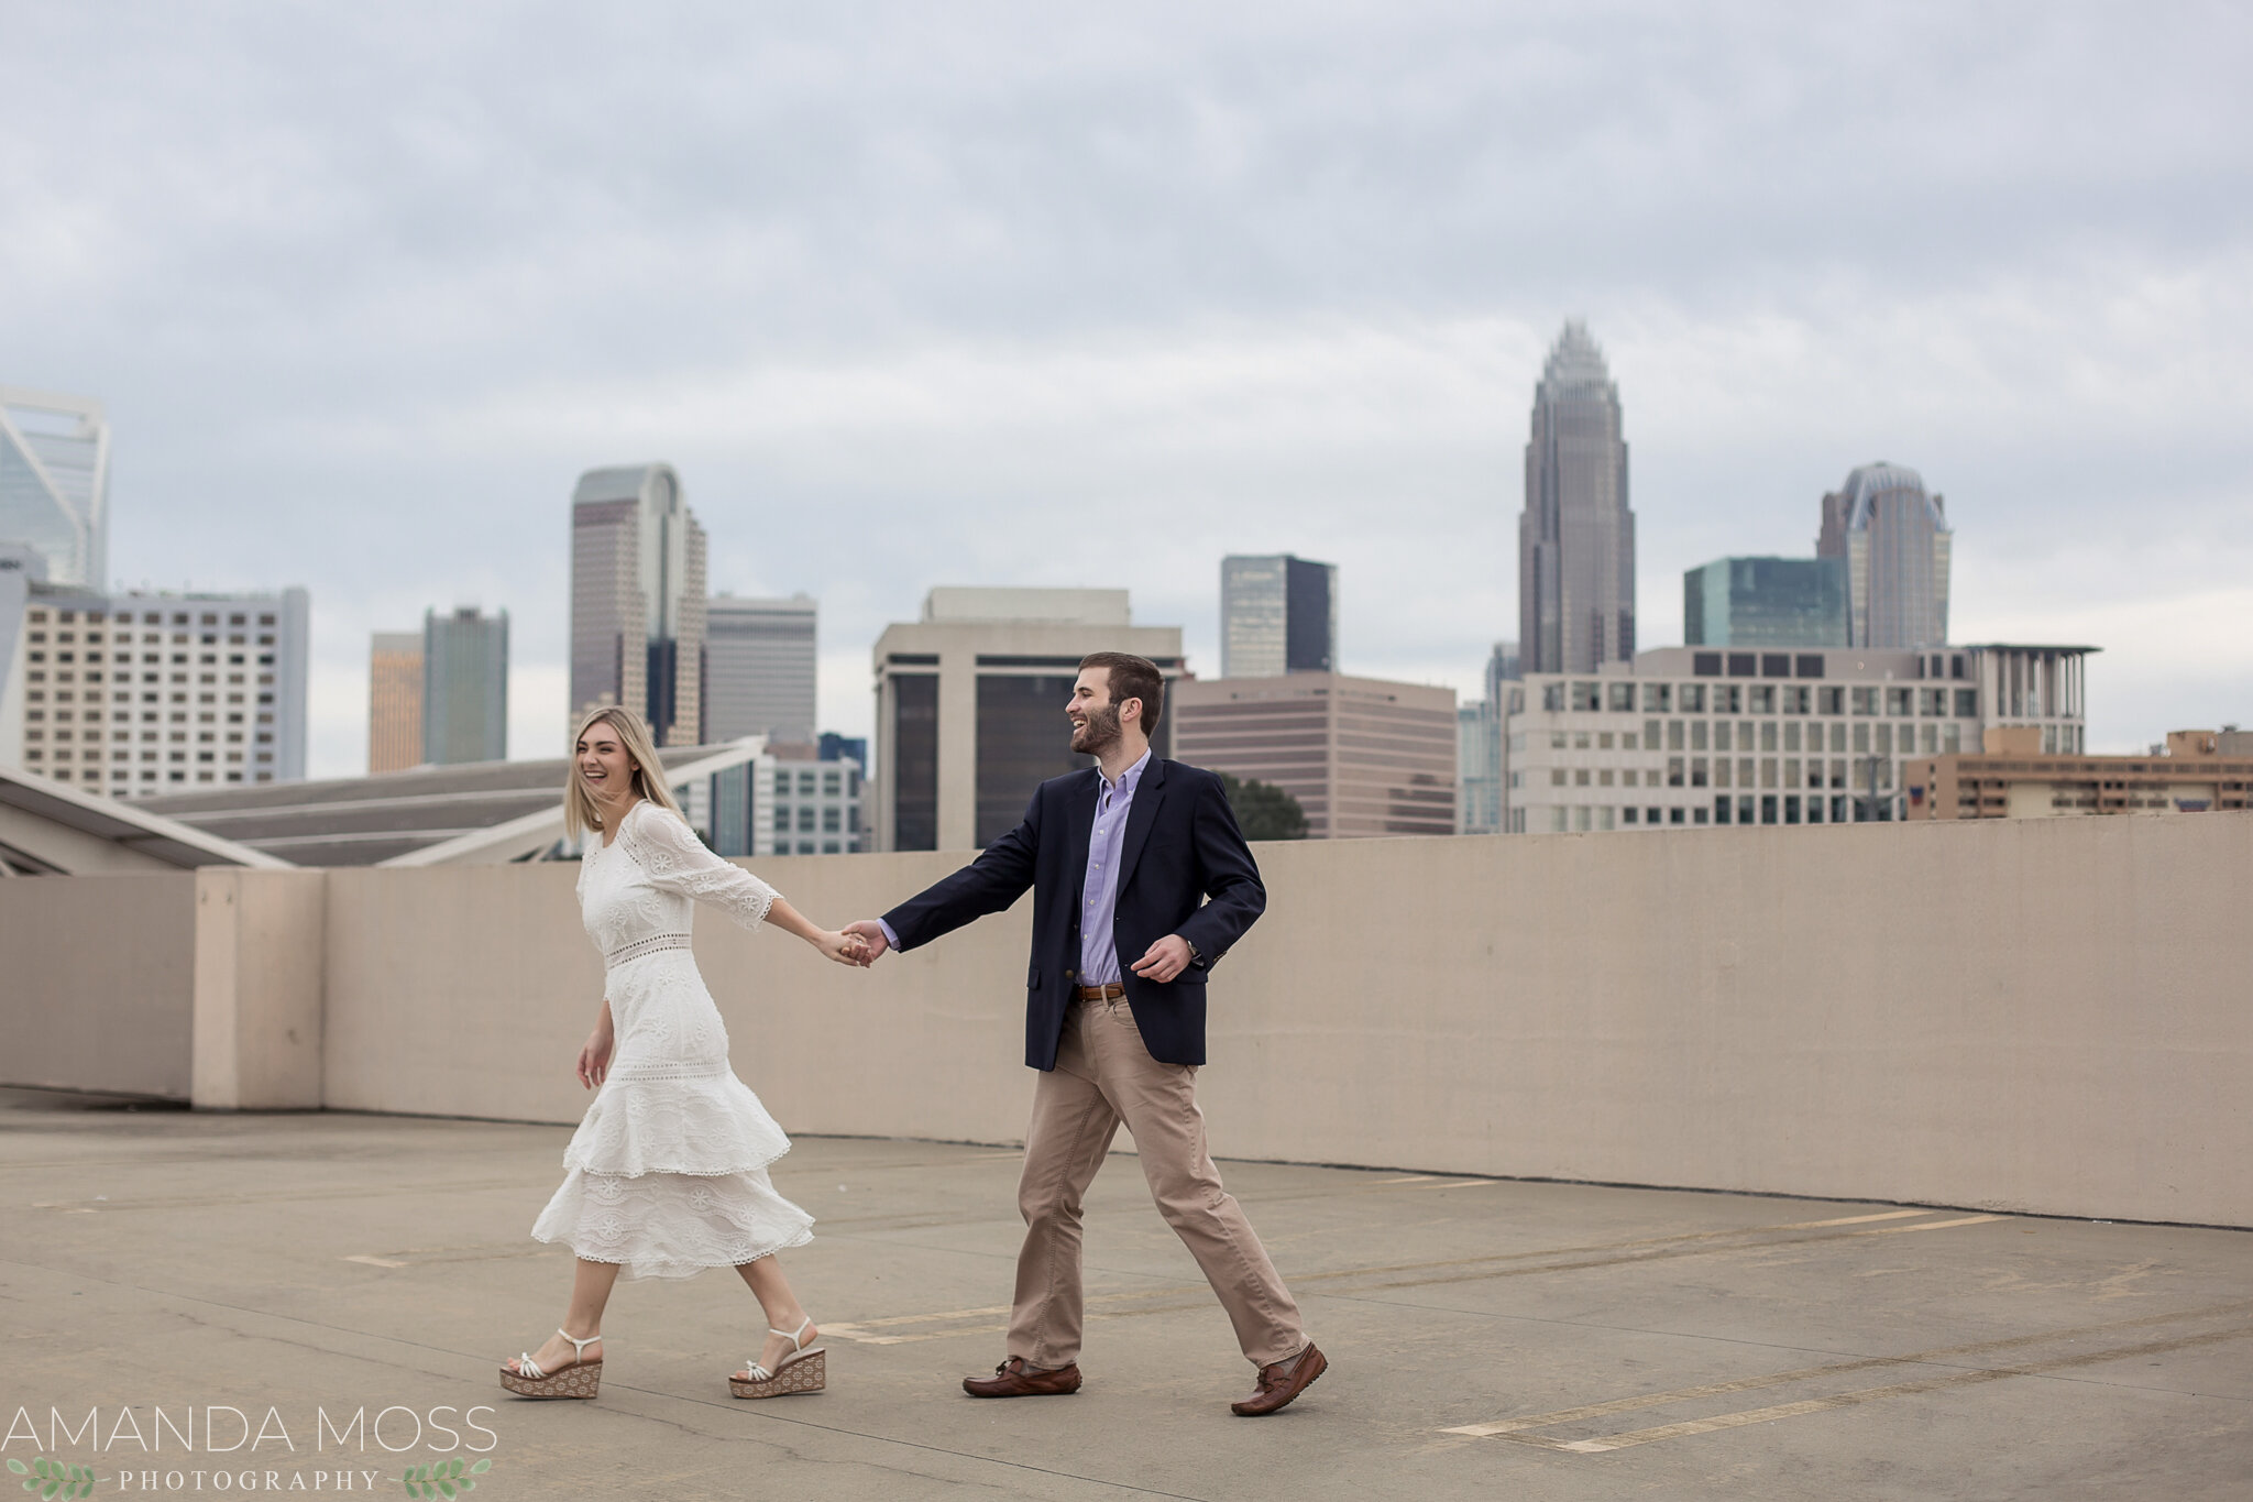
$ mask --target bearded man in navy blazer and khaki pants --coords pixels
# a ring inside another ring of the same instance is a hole
[[[1266,887],[1221,779],[1151,754],[1163,707],[1165,680],[1147,658],[1086,658],[1066,716],[1072,750],[1097,763],[1043,781],[1025,820],[971,865],[847,926],[874,962],[1034,894],[1025,1063],[1041,1079],[1018,1180],[1025,1245],[1007,1360],[991,1378],[962,1380],[978,1398],[1079,1389],[1081,1198],[1122,1121],[1158,1212],[1259,1369],[1257,1389],[1230,1407],[1271,1414],[1329,1365],[1205,1146],[1205,977],[1259,919]]]

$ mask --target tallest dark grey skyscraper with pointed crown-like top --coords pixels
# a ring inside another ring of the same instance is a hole
[[[1620,387],[1588,327],[1550,347],[1525,444],[1519,649],[1528,673],[1593,673],[1636,655],[1636,513]]]

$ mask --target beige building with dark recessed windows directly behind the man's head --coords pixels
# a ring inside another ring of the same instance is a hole
[[[876,849],[985,849],[1032,790],[1090,766],[1063,705],[1095,651],[1181,671],[1181,626],[1136,626],[1126,590],[930,590],[876,637]],[[1174,685],[1176,691],[1181,685]],[[1172,700],[1172,694],[1169,694]],[[1158,721],[1160,757],[1174,712]],[[1453,730],[1449,732],[1453,734]]]

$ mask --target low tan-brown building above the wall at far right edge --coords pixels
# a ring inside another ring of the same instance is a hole
[[[2248,736],[2176,730],[2149,757],[2043,754],[2032,725],[1998,725],[1985,748],[1911,761],[1913,820],[2055,820],[2091,813],[2210,813],[2246,808]]]

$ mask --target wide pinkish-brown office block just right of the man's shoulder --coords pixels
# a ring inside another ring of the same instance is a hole
[[[1313,840],[1455,833],[1455,691],[1345,673],[1174,687],[1174,757],[1298,799]]]

